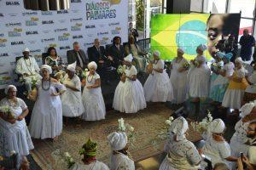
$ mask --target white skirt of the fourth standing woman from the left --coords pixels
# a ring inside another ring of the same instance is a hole
[[[105,119],[106,108],[102,96],[102,88],[88,89],[84,87],[82,101],[84,113],[81,116],[85,121],[99,121]]]

